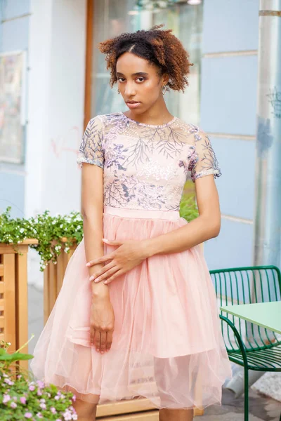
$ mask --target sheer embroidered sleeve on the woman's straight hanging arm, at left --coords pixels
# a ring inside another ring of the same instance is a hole
[[[84,162],[103,168],[103,121],[100,116],[91,119],[86,126],[77,157],[79,166]]]

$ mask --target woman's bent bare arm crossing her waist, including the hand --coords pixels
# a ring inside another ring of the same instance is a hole
[[[195,180],[199,217],[188,225],[175,229],[152,239],[143,241],[107,241],[117,250],[89,262],[95,267],[100,262],[110,261],[93,275],[96,283],[112,282],[118,276],[129,272],[146,258],[157,254],[178,253],[188,250],[203,241],[218,236],[221,228],[221,213],[218,201],[218,192],[214,182],[214,175],[206,175]]]

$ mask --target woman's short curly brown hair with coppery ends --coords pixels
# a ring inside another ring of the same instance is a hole
[[[171,29],[160,29],[163,26],[157,25],[147,31],[124,33],[98,44],[101,53],[106,54],[107,69],[110,69],[111,76],[110,86],[117,82],[118,58],[129,52],[157,65],[160,75],[168,74],[168,88],[184,91],[185,86],[188,86],[188,74],[192,63],[181,41],[171,34]]]

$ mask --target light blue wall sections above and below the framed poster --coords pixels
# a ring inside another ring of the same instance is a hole
[[[30,0],[0,1],[0,53],[28,51]],[[0,161],[0,212],[12,206],[14,217],[23,216],[24,165]]]

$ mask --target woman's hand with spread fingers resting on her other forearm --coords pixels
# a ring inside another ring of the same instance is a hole
[[[145,246],[141,241],[109,241],[103,239],[103,242],[108,246],[117,246],[118,248],[102,258],[91,260],[91,262],[86,264],[86,266],[90,267],[107,262],[102,269],[90,277],[90,281],[110,283],[117,276],[123,275],[133,269],[133,267],[140,265],[148,257],[145,253]]]

